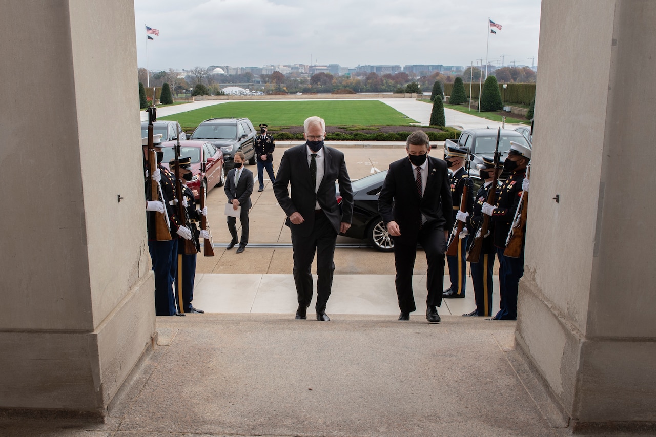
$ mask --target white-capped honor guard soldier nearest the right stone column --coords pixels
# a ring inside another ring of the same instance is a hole
[[[503,165],[504,171],[510,173],[510,176],[499,189],[497,205],[483,203],[482,206],[483,214],[489,215],[494,223],[493,241],[499,258],[501,302],[499,302],[499,312],[492,320],[517,320],[517,294],[520,278],[524,274],[524,250],[522,247],[518,258],[505,256],[504,250],[508,233],[512,228],[512,221],[520,204],[523,188],[528,190],[528,184],[523,182],[526,167],[530,161],[531,149],[511,141],[510,150]]]

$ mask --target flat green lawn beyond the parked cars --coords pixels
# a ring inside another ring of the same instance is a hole
[[[301,126],[306,118],[318,115],[327,125],[407,126],[417,121],[375,100],[329,100],[308,102],[226,102],[197,110],[161,117],[176,120],[183,129],[196,127],[201,121],[215,117],[247,117],[254,126]]]

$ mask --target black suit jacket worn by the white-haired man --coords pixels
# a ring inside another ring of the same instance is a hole
[[[280,207],[287,214],[287,226],[298,236],[308,236],[314,228],[314,209],[319,203],[323,213],[339,233],[340,222],[350,223],[353,216],[353,192],[351,179],[346,171],[344,154],[331,147],[323,147],[324,173],[319,189],[315,193],[308,165],[306,144],[289,148],[280,160],[274,194]],[[335,198],[335,181],[339,182],[341,207]],[[291,185],[291,197],[288,186]],[[289,216],[300,213],[304,218],[301,224],[293,224]]]

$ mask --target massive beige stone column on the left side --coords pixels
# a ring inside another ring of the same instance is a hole
[[[155,333],[133,1],[5,0],[0,41],[0,408],[102,417]]]

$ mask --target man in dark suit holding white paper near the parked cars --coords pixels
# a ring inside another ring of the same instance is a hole
[[[237,218],[228,216],[228,230],[232,235],[232,241],[226,249],[232,249],[239,242],[237,253],[242,253],[248,244],[248,211],[251,209],[251,194],[253,193],[253,172],[245,169],[243,164],[246,157],[242,152],[237,152],[234,157],[235,168],[228,172],[226,184],[223,189],[228,196],[228,203],[236,210],[241,207],[239,222],[241,222],[241,239],[237,239]]]

